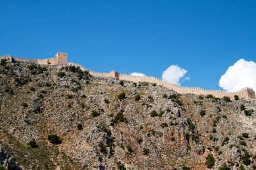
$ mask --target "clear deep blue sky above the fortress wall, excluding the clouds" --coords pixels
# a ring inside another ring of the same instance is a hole
[[[187,70],[181,85],[220,89],[240,58],[256,61],[255,0],[0,0],[0,55],[67,52],[92,71],[161,78]]]

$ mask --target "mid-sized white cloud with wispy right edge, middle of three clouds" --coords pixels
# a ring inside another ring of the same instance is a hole
[[[190,78],[185,77],[187,71],[179,65],[171,65],[162,73],[162,79],[168,83],[181,85],[180,81],[188,81]],[[184,78],[183,78],[184,77]],[[183,79],[182,79],[183,78]],[[181,80],[182,79],[182,80]]]

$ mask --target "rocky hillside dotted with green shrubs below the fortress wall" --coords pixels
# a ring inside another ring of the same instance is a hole
[[[256,169],[256,101],[0,63],[0,169]]]

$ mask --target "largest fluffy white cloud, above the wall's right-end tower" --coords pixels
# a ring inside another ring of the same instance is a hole
[[[226,91],[251,87],[256,91],[256,62],[240,59],[222,75],[219,86]]]

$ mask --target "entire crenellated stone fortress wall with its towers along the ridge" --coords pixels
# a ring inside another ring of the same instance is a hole
[[[55,55],[55,58],[46,58],[46,59],[26,59],[26,58],[13,58],[11,55],[7,56],[0,56],[1,59],[7,59],[9,62],[32,62],[40,65],[74,65],[77,67],[80,67],[80,69],[84,71],[89,71],[85,67],[82,67],[82,65],[73,63],[73,62],[67,62],[67,54],[63,52],[57,52]],[[97,73],[94,71],[89,71],[91,75],[95,77],[115,77],[116,79],[119,80],[124,80],[124,81],[133,81],[135,83],[139,82],[149,82],[149,83],[156,83],[156,85],[160,85],[162,87],[166,87],[168,89],[173,89],[174,91],[177,91],[178,93],[182,94],[195,94],[195,95],[208,95],[212,94],[215,97],[224,97],[228,96],[231,99],[234,99],[234,95],[238,95],[241,98],[251,98],[255,99],[255,91],[249,87],[245,87],[241,89],[240,91],[232,91],[232,92],[225,92],[225,91],[219,91],[219,90],[207,90],[207,89],[201,89],[198,87],[181,87],[179,85],[173,85],[171,83],[168,83],[166,81],[162,81],[161,79],[158,79],[156,77],[139,77],[139,76],[132,76],[132,75],[126,75],[126,74],[119,74],[117,71],[110,71],[108,73]]]

